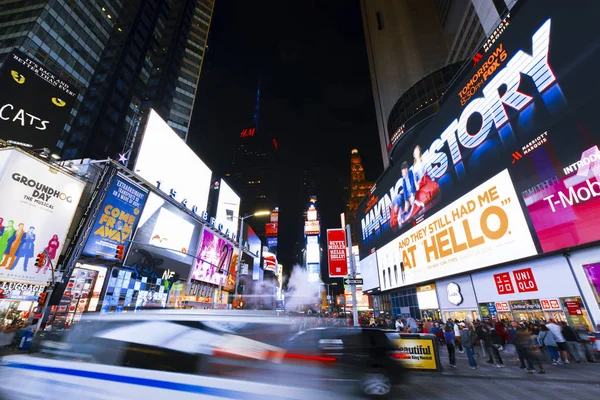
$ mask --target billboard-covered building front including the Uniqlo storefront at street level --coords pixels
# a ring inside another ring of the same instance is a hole
[[[594,330],[598,8],[517,3],[439,112],[398,142],[357,211],[363,290],[377,312]]]

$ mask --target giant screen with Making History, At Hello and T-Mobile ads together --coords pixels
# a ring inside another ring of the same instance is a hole
[[[517,3],[440,112],[400,139],[357,211],[360,256],[377,251],[382,290],[600,239],[600,4],[584,3]],[[503,213],[485,214],[480,196]],[[487,236],[501,214],[509,230]],[[476,238],[485,242],[478,263]]]

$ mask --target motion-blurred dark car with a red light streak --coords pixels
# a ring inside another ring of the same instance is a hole
[[[283,345],[284,364],[293,363],[298,376],[315,373],[324,386],[352,385],[369,397],[392,396],[403,370],[386,331],[371,328],[315,328],[295,334]],[[303,368],[302,368],[303,367]]]

